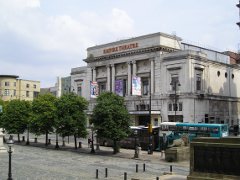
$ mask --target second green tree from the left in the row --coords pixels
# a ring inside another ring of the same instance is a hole
[[[31,132],[36,135],[46,134],[45,145],[48,145],[48,134],[53,132],[56,118],[57,98],[48,93],[39,95],[32,102],[33,119],[31,122]]]

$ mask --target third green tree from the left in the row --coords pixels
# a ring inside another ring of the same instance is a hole
[[[74,93],[62,95],[56,102],[57,118],[56,130],[57,133],[65,136],[74,135],[75,148],[77,148],[77,137],[85,138],[87,136],[86,124],[88,102]]]

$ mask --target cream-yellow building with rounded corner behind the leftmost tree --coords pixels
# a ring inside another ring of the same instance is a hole
[[[40,81],[18,79],[15,75],[0,75],[0,96],[4,101],[32,101],[40,92]]]

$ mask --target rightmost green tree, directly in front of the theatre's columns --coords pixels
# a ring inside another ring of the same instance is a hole
[[[97,98],[91,122],[98,137],[113,140],[113,153],[119,152],[118,141],[130,134],[130,117],[124,105],[123,97],[111,92],[102,93]]]

